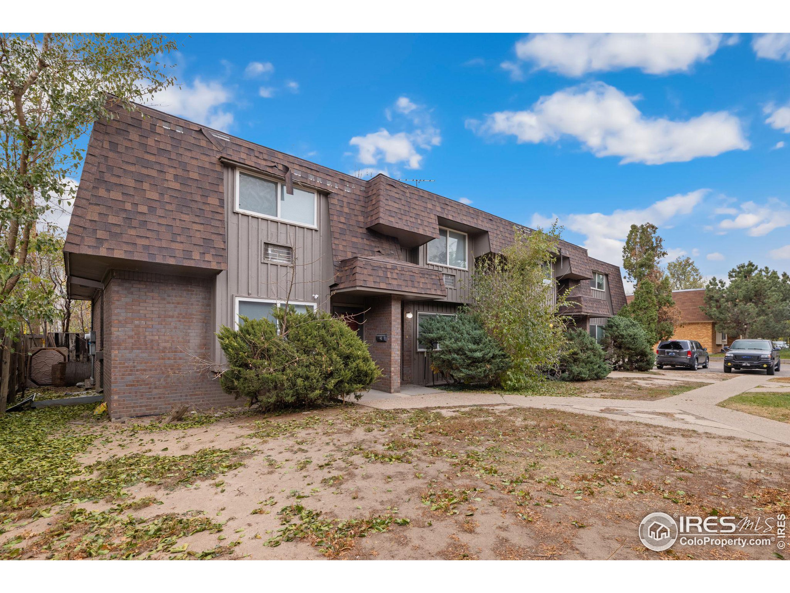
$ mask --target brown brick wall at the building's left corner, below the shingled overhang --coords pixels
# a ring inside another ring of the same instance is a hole
[[[209,361],[213,280],[113,270],[104,289],[104,389],[113,418],[234,400]]]

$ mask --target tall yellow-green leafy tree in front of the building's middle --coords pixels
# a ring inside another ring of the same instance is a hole
[[[472,276],[472,312],[510,356],[502,386],[523,389],[556,374],[565,346],[566,295],[556,294],[551,264],[559,250],[559,228],[524,232],[501,255],[481,260]]]

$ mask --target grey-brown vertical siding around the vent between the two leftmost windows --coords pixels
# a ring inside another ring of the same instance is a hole
[[[224,168],[228,270],[216,277],[214,315],[216,327],[234,327],[235,300],[251,298],[311,303],[329,311],[329,285],[333,281],[329,201],[318,195],[317,226],[290,224],[235,211],[235,168]],[[276,179],[273,179],[276,180]],[[292,247],[293,268],[265,259],[265,244]],[[295,280],[291,287],[292,271]],[[318,295],[315,298],[314,295]],[[220,352],[215,342],[215,360]]]

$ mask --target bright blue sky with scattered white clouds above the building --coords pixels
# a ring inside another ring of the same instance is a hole
[[[193,35],[158,108],[430,191],[619,263],[790,270],[790,36]],[[787,145],[785,145],[785,143]]]

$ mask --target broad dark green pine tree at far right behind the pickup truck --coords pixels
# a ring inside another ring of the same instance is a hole
[[[768,266],[740,263],[728,281],[711,278],[702,312],[716,330],[745,338],[777,339],[790,334],[790,276]]]

